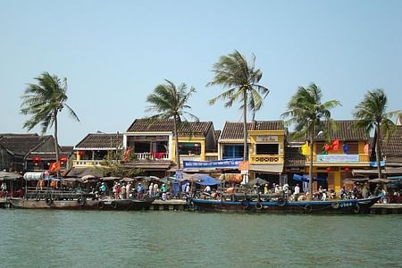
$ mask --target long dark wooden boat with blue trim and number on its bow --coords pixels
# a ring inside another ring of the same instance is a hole
[[[218,199],[193,198],[194,209],[205,212],[275,214],[364,214],[381,197],[325,201],[288,201],[286,197],[255,194],[225,194]]]

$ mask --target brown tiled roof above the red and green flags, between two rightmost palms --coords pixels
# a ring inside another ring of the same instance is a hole
[[[336,121],[338,128],[337,130],[331,129],[331,139],[338,138],[342,141],[369,140],[370,137],[364,129],[357,129],[354,126],[355,122],[353,120]],[[325,137],[320,136],[317,140],[324,141]]]

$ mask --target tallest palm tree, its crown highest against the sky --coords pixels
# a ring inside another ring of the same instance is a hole
[[[239,100],[239,109],[243,110],[243,138],[244,138],[244,160],[248,160],[247,148],[247,108],[255,119],[255,112],[263,106],[264,98],[270,90],[258,84],[263,77],[263,72],[255,69],[255,55],[252,55],[251,62],[235,50],[234,53],[222,55],[218,63],[214,64],[214,80],[207,86],[219,85],[227,88],[222,94],[209,101],[214,105],[218,99],[226,101],[225,107],[231,107],[233,102]]]

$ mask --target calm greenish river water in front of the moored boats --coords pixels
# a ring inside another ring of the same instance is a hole
[[[0,209],[1,267],[401,267],[402,215]]]

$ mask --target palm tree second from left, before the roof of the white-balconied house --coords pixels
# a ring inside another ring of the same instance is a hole
[[[151,121],[173,119],[173,135],[176,143],[175,158],[178,170],[180,170],[178,128],[180,123],[187,121],[185,115],[198,121],[196,115],[186,111],[191,109],[191,106],[187,105],[187,103],[189,97],[196,92],[196,88],[191,87],[188,89],[187,85],[184,83],[176,87],[170,80],[165,81],[166,83],[156,86],[154,93],[147,96],[147,102],[152,104],[147,108],[147,112],[156,113],[148,119]]]

